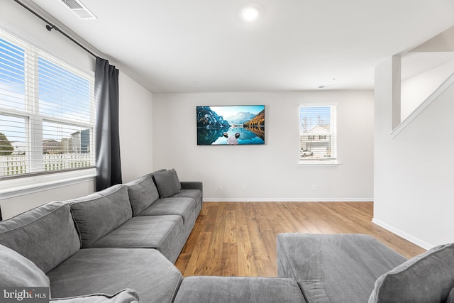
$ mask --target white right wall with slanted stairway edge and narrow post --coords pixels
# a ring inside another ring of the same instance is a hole
[[[392,138],[392,77],[392,59],[377,66],[373,221],[423,248],[454,242],[454,87]]]

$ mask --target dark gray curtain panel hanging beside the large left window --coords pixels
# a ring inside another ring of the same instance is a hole
[[[96,57],[96,191],[120,184],[120,138],[118,135],[118,70]]]

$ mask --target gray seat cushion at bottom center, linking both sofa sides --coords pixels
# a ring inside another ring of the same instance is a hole
[[[175,303],[305,303],[297,282],[276,277],[184,278]]]

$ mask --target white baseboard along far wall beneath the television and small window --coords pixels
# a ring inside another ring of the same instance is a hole
[[[204,202],[373,202],[373,198],[206,198]]]

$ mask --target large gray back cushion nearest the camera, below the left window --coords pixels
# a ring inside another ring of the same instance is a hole
[[[0,222],[0,244],[48,272],[80,249],[70,204],[50,202]]]

